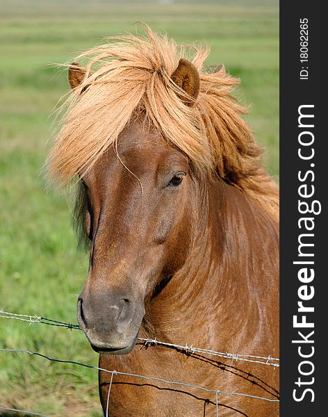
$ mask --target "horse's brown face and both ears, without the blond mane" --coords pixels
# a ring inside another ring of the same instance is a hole
[[[81,79],[83,68],[74,64],[72,88]],[[192,63],[181,59],[172,80],[196,99],[199,75]],[[190,252],[194,173],[188,157],[138,117],[81,181],[90,263],[77,304],[79,324],[97,352],[126,354],[136,343],[145,304]]]

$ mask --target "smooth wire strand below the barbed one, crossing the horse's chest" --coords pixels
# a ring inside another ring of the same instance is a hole
[[[45,354],[42,354],[42,353],[39,353],[39,352],[30,352],[29,350],[24,350],[24,349],[0,349],[0,352],[27,353],[27,354],[42,357],[44,359],[48,359],[49,361],[53,361],[53,362],[72,363],[73,365],[84,366],[85,368],[92,368],[92,369],[95,369],[95,370],[101,370],[103,372],[110,373],[111,375],[113,375],[113,374],[115,374],[115,375],[126,375],[126,376],[129,376],[129,377],[136,377],[136,378],[148,379],[148,380],[151,380],[151,381],[164,382],[165,384],[188,386],[189,388],[199,389],[199,390],[202,390],[202,391],[206,391],[208,393],[215,393],[215,394],[220,393],[220,394],[223,394],[223,395],[237,395],[237,396],[241,396],[241,397],[254,398],[256,400],[263,400],[263,401],[269,401],[269,402],[279,402],[279,400],[273,400],[272,398],[259,397],[258,395],[251,395],[251,394],[245,394],[245,393],[229,393],[229,392],[226,392],[226,391],[208,389],[208,388],[205,388],[204,386],[189,384],[188,382],[170,381],[170,380],[159,378],[159,377],[148,377],[146,375],[138,375],[138,374],[134,374],[134,373],[120,372],[118,370],[108,370],[108,369],[99,368],[97,366],[87,365],[86,363],[81,363],[81,362],[76,362],[76,361],[65,361],[63,359],[53,359],[51,357],[46,356]]]

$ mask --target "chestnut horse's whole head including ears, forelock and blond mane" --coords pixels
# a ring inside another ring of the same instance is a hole
[[[90,242],[90,267],[78,318],[92,347],[113,354],[133,349],[144,317],[147,334],[167,326],[167,305],[183,299],[180,275],[186,286],[206,263],[209,277],[222,224],[231,227],[222,206],[233,201],[222,197],[227,186],[270,218],[278,213],[277,186],[231,95],[238,80],[223,66],[204,71],[207,49],[194,48],[191,62],[181,58],[190,48],[146,31],[81,54],[86,67],[69,66],[67,113],[47,163],[56,183],[79,177],[76,218]]]

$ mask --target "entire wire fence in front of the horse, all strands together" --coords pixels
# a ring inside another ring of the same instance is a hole
[[[79,325],[74,325],[70,322],[62,322],[62,321],[59,321],[59,320],[53,320],[53,319],[44,318],[42,316],[36,316],[36,315],[35,316],[30,316],[30,315],[26,315],[26,314],[8,313],[8,311],[0,310],[0,318],[11,319],[11,320],[20,320],[20,321],[28,322],[30,325],[35,324],[35,323],[39,323],[39,324],[50,325],[50,326],[54,326],[54,327],[63,327],[65,329],[69,329],[69,330],[73,330],[73,329],[81,330],[81,327]],[[230,352],[217,352],[215,350],[209,350],[209,349],[204,349],[204,348],[200,348],[200,347],[194,347],[194,346],[188,345],[188,344],[186,344],[186,345],[177,345],[177,344],[174,344],[174,343],[162,342],[162,341],[156,340],[156,338],[138,338],[138,341],[142,342],[143,345],[145,345],[145,347],[147,347],[149,345],[163,345],[163,346],[166,346],[166,347],[174,347],[174,348],[176,348],[178,350],[181,350],[183,352],[188,352],[188,354],[202,353],[202,354],[212,355],[214,357],[222,357],[224,359],[231,359],[232,361],[246,361],[246,362],[251,362],[251,363],[261,363],[262,365],[265,365],[265,366],[272,366],[274,369],[279,368],[279,358],[274,358],[271,355],[259,356],[259,355],[252,355],[252,354],[236,354],[236,353],[230,353]],[[215,394],[215,406],[216,406],[216,416],[217,417],[219,416],[219,402],[218,402],[218,399],[219,399],[220,394],[236,395],[236,396],[253,398],[254,400],[264,400],[264,401],[268,401],[268,402],[279,402],[279,400],[276,400],[276,399],[260,397],[260,396],[257,396],[257,395],[250,395],[250,394],[246,394],[246,393],[231,393],[231,392],[227,392],[227,391],[221,391],[220,389],[216,389],[216,390],[207,389],[204,386],[197,386],[195,384],[189,384],[187,382],[170,381],[170,380],[159,378],[159,377],[153,377],[153,376],[147,376],[147,375],[138,375],[138,374],[135,374],[135,373],[120,372],[119,370],[107,370],[107,369],[104,369],[104,368],[99,368],[97,366],[92,366],[92,365],[88,365],[86,363],[81,363],[81,362],[77,362],[77,361],[66,361],[64,359],[54,359],[54,358],[48,357],[47,355],[42,354],[40,352],[31,352],[29,350],[24,350],[24,349],[0,348],[0,352],[26,353],[26,354],[31,354],[33,356],[42,357],[42,358],[47,359],[47,360],[52,361],[52,362],[70,363],[72,365],[83,366],[85,368],[91,368],[91,369],[95,369],[95,370],[98,370],[98,371],[101,370],[101,371],[104,371],[105,373],[110,374],[110,383],[109,383],[109,387],[108,387],[107,404],[106,404],[106,417],[108,417],[110,390],[111,390],[113,379],[114,379],[115,375],[126,375],[126,376],[130,376],[130,377],[137,377],[137,378],[147,379],[147,380],[151,380],[151,381],[163,382],[163,383],[168,384],[168,385],[172,384],[172,385],[179,385],[179,386],[187,386],[187,387],[192,388],[192,389],[199,389],[200,391],[205,391],[205,392],[208,392],[208,393],[214,393]],[[24,412],[25,414],[31,414],[31,415],[35,415],[35,416],[49,417],[49,416],[46,416],[44,414],[34,413],[32,411],[24,411],[24,410],[19,410],[19,409],[10,409],[10,408],[6,408],[6,407],[0,407],[0,409],[5,409],[5,410],[8,410],[8,411]]]

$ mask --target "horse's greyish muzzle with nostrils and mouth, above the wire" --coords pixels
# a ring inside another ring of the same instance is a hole
[[[121,295],[95,300],[81,294],[77,302],[79,325],[92,349],[101,354],[130,353],[144,315],[143,305]]]

